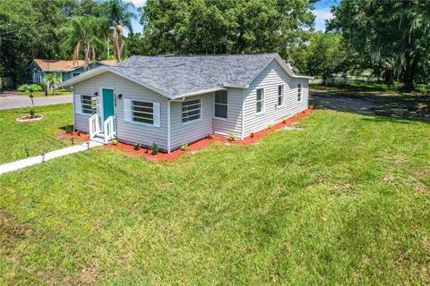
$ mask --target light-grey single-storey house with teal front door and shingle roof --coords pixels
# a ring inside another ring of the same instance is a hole
[[[170,152],[210,133],[244,139],[308,107],[308,80],[280,55],[134,55],[73,86],[73,125]]]

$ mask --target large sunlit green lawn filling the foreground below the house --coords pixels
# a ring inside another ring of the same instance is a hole
[[[430,283],[430,124],[301,124],[173,163],[96,148],[2,175],[0,284]]]

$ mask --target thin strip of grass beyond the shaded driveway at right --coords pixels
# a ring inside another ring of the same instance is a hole
[[[331,93],[347,93],[356,95],[381,95],[381,93],[386,95],[428,95],[430,94],[430,89],[423,85],[417,87],[415,92],[403,92],[401,87],[390,87],[383,82],[348,82],[347,84],[342,82],[331,82],[327,85],[323,83],[313,83],[310,84],[313,89],[323,90]]]

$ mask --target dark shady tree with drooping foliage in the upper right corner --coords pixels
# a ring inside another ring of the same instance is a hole
[[[423,0],[344,0],[332,8],[329,29],[341,31],[387,80],[400,79],[413,89],[417,79],[429,79],[429,11],[430,2]]]

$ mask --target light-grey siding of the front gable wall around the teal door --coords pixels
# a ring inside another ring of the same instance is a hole
[[[114,88],[115,95],[123,95],[122,99],[116,100],[116,137],[125,143],[137,142],[146,146],[150,146],[155,141],[159,148],[168,149],[168,100],[166,97],[111,72],[84,80],[76,84],[74,88],[74,93],[77,95],[92,95],[96,91],[100,93],[100,88]],[[124,99],[158,102],[160,105],[160,127],[137,122],[125,122]],[[90,115],[87,114],[75,114],[76,129],[89,131],[89,118]]]

